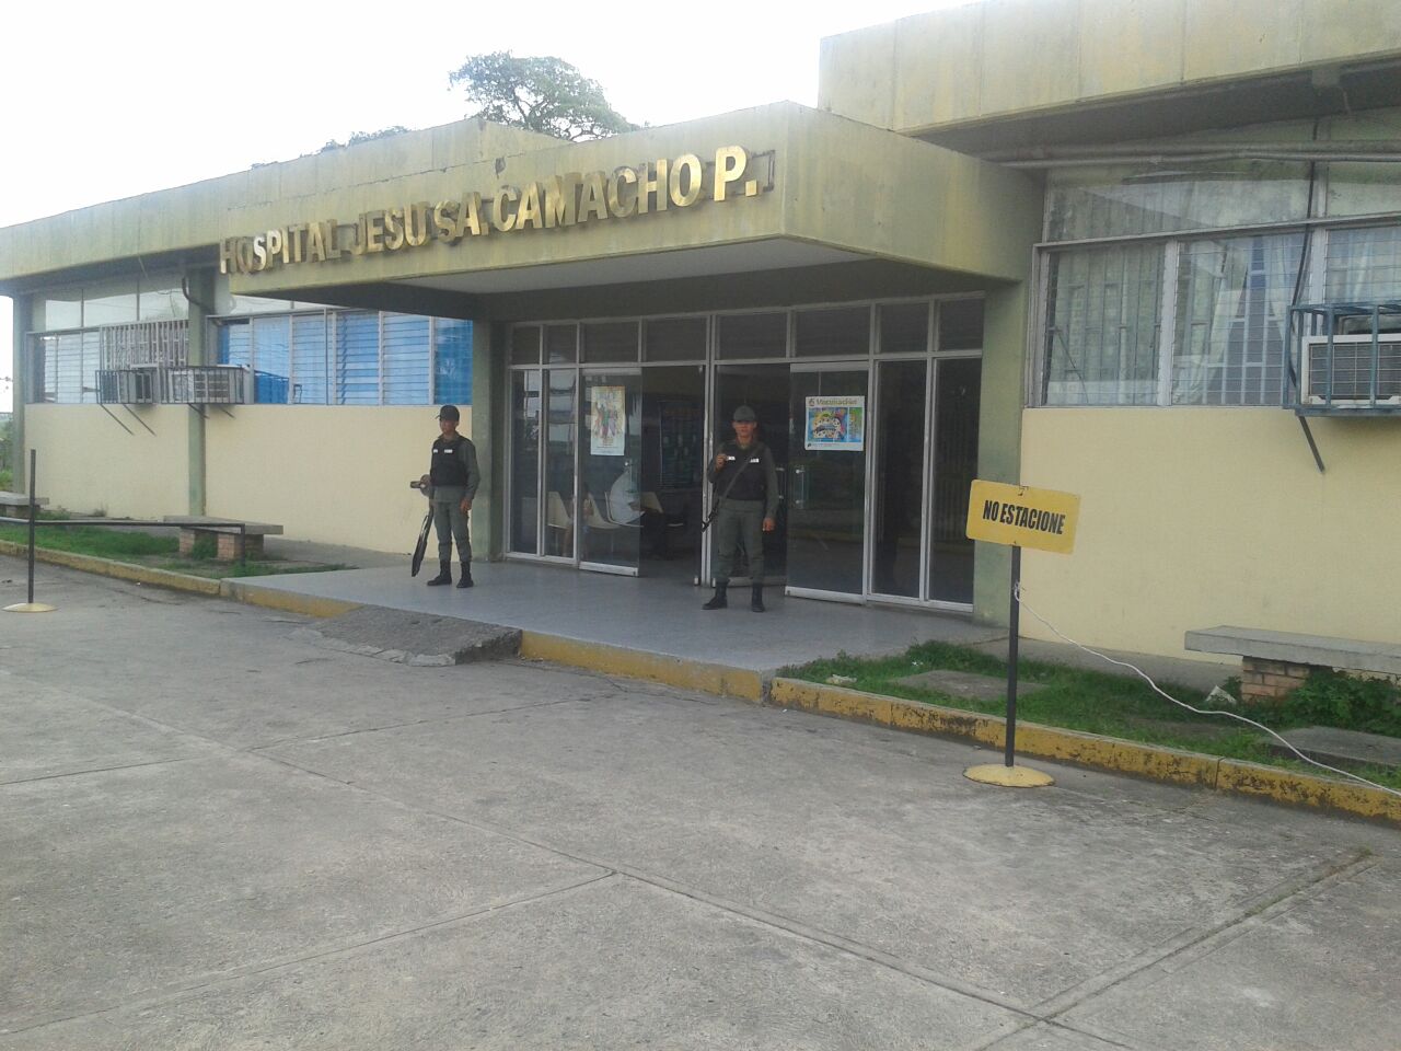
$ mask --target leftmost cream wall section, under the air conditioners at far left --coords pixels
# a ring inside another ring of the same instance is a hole
[[[81,514],[186,514],[189,408],[133,409],[150,430],[126,409],[111,408],[116,419],[101,405],[24,406],[25,457],[29,448],[38,453],[38,495],[49,500],[50,509]]]

